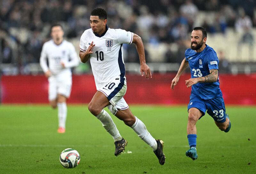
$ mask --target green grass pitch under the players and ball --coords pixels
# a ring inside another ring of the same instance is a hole
[[[135,132],[112,117],[128,141],[114,156],[114,142],[85,105],[68,105],[65,134],[57,133],[57,110],[46,105],[0,105],[0,173],[255,173],[256,107],[227,106],[232,128],[221,132],[205,115],[197,123],[198,159],[188,147],[186,106],[130,106],[155,138],[164,140],[166,163]],[[250,139],[250,140],[248,140]],[[74,148],[81,161],[75,169],[59,162],[60,152]],[[131,151],[132,153],[127,153]]]

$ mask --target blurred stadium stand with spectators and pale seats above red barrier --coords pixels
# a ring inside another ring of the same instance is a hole
[[[2,0],[0,2],[0,70],[4,75],[41,74],[42,45],[50,39],[52,23],[60,23],[65,36],[79,52],[83,31],[90,28],[90,11],[107,10],[110,28],[123,28],[140,35],[152,71],[166,73],[179,68],[190,47],[194,26],[207,29],[207,44],[233,74],[256,72],[256,1],[232,0]],[[126,70],[139,73],[134,45],[124,46]],[[225,66],[224,66],[225,67]],[[220,73],[222,71],[220,70]],[[81,64],[74,73],[91,73]]]

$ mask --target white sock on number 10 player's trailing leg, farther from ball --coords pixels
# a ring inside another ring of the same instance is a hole
[[[131,128],[138,134],[138,136],[143,141],[145,141],[150,147],[152,147],[153,150],[156,150],[157,149],[156,139],[150,135],[145,124],[142,121],[140,121],[139,118],[137,118],[137,117],[135,117],[135,118],[136,118],[136,121],[131,126]]]

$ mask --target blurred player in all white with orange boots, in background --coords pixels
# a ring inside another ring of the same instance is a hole
[[[59,24],[52,25],[52,40],[45,42],[40,57],[40,65],[49,82],[49,101],[53,108],[58,107],[59,133],[66,131],[67,104],[72,86],[71,67],[79,64],[72,43],[63,39],[63,29]],[[48,64],[47,66],[47,58]]]

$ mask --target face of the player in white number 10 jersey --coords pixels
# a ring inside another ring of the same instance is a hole
[[[101,20],[99,16],[90,16],[90,24],[93,33],[102,34],[105,30],[107,20]]]

